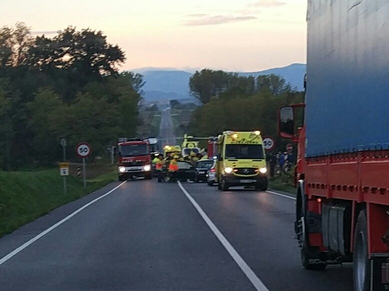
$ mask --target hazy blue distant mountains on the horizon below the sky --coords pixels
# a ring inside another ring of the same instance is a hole
[[[166,99],[183,99],[189,95],[189,78],[193,72],[174,70],[144,68],[134,70],[141,73],[146,84],[143,87],[144,99],[166,100]],[[259,72],[238,72],[242,76],[254,76],[276,74],[282,76],[292,86],[298,90],[303,90],[304,74],[306,72],[305,64],[291,64],[286,67],[274,68]]]

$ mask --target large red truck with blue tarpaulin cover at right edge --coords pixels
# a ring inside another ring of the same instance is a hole
[[[307,16],[305,102],[278,122],[298,143],[301,263],[352,262],[355,291],[389,290],[389,2],[309,0]]]

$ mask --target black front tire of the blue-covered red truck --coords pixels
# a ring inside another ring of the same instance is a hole
[[[325,270],[327,267],[327,264],[324,262],[321,262],[318,260],[318,256],[316,254],[318,253],[317,250],[315,250],[314,247],[309,246],[308,243],[308,229],[305,219],[305,209],[306,205],[304,203],[305,199],[300,199],[301,204],[300,207],[297,207],[299,209],[300,213],[298,214],[298,217],[300,217],[298,221],[298,234],[297,238],[299,240],[300,245],[300,258],[301,258],[301,264],[303,265],[304,269],[306,270],[314,270],[314,271],[322,271]]]

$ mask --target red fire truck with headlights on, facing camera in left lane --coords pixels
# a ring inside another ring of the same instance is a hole
[[[149,142],[141,139],[120,138],[117,155],[119,181],[137,177],[152,179]]]

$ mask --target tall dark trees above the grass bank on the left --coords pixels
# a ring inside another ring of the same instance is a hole
[[[136,135],[143,80],[119,73],[126,60],[102,31],[68,26],[34,36],[24,23],[0,28],[0,169],[50,164],[88,142],[103,154]]]

